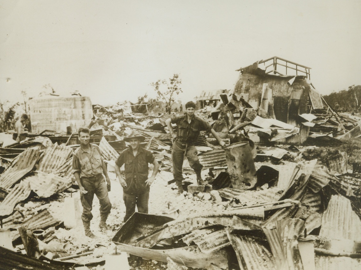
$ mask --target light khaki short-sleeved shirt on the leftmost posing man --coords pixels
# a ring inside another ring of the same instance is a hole
[[[92,177],[103,173],[102,158],[99,146],[90,144],[85,151],[81,146],[73,154],[73,173],[79,172],[80,177]]]

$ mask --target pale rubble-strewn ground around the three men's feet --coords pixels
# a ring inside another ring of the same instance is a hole
[[[203,171],[205,175],[208,170]],[[116,178],[114,172],[109,172],[109,178],[111,179],[112,190],[109,192],[109,199],[112,203],[112,210],[108,217],[107,224],[109,230],[105,233],[99,231],[98,224],[100,220],[99,215],[99,201],[94,197],[93,200],[93,219],[91,221],[91,229],[93,233],[97,236],[97,239],[90,239],[84,235],[83,225],[80,219],[81,211],[78,210],[76,226],[71,229],[59,228],[56,230],[55,234],[62,242],[69,242],[69,247],[66,248],[66,252],[70,254],[75,254],[78,252],[88,252],[93,251],[92,255],[80,257],[74,259],[74,262],[79,263],[90,263],[90,262],[99,262],[102,260],[112,260],[108,255],[114,253],[116,245],[111,241],[113,236],[119,230],[122,225],[123,217],[125,215],[125,206],[122,199],[122,188]],[[192,214],[209,214],[211,211],[223,211],[225,206],[222,204],[217,204],[208,200],[201,200],[198,197],[193,197],[192,194],[184,193],[180,196],[177,195],[177,189],[175,183],[168,185],[167,181],[173,179],[173,174],[166,171],[161,171],[156,176],[155,181],[152,183],[151,191],[149,195],[149,214],[156,215],[168,215],[173,218],[183,219],[187,218]],[[195,181],[195,175],[190,175],[191,181]],[[174,189],[172,189],[174,188]],[[31,207],[35,211],[41,208],[48,208],[51,214],[59,220],[68,220],[70,223],[74,221],[74,216],[72,210],[72,205],[69,205],[68,202],[64,200],[69,200],[66,198],[70,197],[70,193],[61,193],[62,198],[51,201],[50,203],[40,203],[40,202],[28,202],[24,205],[25,209]],[[79,192],[74,192],[72,196],[78,206],[81,209],[81,203],[79,200]],[[176,210],[179,210],[179,214],[175,213]],[[120,252],[121,250],[117,250]],[[114,256],[113,256],[114,257]],[[119,262],[117,262],[119,264]],[[166,263],[158,263],[156,261],[150,261],[152,267],[140,266],[131,267],[130,269],[165,269]],[[108,267],[108,266],[107,266]],[[124,267],[126,267],[124,265]],[[81,269],[88,269],[88,267],[81,267]],[[89,267],[89,269],[109,269],[105,266],[96,266]],[[111,269],[111,268],[110,268]],[[123,269],[122,267],[119,269]],[[124,268],[126,269],[126,268]]]

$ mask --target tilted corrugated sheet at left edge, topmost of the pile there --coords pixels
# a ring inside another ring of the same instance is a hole
[[[31,148],[19,154],[11,166],[0,175],[0,187],[3,189],[11,188],[21,177],[32,170],[40,154],[40,151]]]

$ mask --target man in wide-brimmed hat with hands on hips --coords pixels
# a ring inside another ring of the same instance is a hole
[[[123,200],[126,207],[124,222],[135,212],[135,206],[139,213],[148,213],[148,200],[150,186],[157,175],[159,164],[151,151],[140,146],[145,138],[135,130],[124,141],[129,142],[130,147],[125,149],[116,160],[115,171],[119,183],[123,187]],[[154,165],[151,177],[148,177],[148,163]],[[120,167],[124,164],[125,179],[120,173]]]

